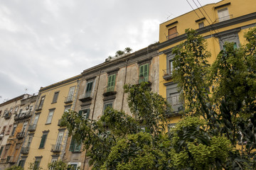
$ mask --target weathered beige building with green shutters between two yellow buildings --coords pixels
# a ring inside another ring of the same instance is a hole
[[[159,55],[156,45],[149,45],[131,54],[115,57],[82,72],[75,111],[86,118],[99,119],[107,106],[131,114],[124,94],[124,84],[149,81],[152,91],[159,90]],[[81,169],[90,169],[82,146],[68,138],[64,162]]]

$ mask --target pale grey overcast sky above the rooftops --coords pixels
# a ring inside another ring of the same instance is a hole
[[[157,42],[160,23],[191,10],[186,0],[0,0],[0,103]]]

